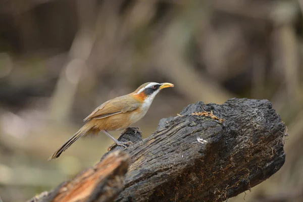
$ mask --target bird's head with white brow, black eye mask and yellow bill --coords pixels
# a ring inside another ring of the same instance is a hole
[[[163,88],[174,87],[172,83],[157,83],[157,82],[147,82],[140,85],[132,95],[141,100],[141,102],[148,102],[151,104],[155,96]]]

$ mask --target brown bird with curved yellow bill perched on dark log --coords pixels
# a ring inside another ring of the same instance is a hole
[[[83,121],[86,123],[71,136],[48,161],[58,158],[77,139],[89,134],[105,133],[117,145],[127,147],[131,141],[123,142],[115,139],[109,131],[119,131],[142,119],[148,111],[155,96],[164,88],[174,87],[172,83],[147,82],[134,92],[108,100],[97,107]]]

